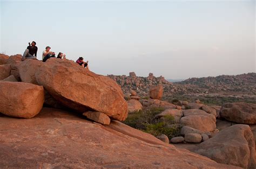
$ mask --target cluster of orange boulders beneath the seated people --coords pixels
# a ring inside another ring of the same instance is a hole
[[[46,62],[0,55],[0,112],[31,118],[43,105],[64,107],[109,124],[127,117],[127,103],[116,82],[70,60]]]

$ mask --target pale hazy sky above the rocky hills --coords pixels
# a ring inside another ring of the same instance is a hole
[[[0,52],[36,41],[97,74],[187,79],[256,72],[255,1],[3,1]]]

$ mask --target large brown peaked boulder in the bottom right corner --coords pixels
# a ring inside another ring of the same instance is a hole
[[[193,152],[209,157],[217,163],[255,168],[255,142],[250,126],[232,125],[206,140]]]

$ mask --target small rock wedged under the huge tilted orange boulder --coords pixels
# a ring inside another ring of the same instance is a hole
[[[101,123],[101,124],[110,124],[110,118],[103,112],[98,111],[86,111],[83,113],[84,116],[86,116],[89,119],[92,119],[95,122]]]

